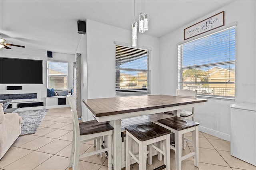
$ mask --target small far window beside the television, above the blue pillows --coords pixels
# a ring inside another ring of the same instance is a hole
[[[48,61],[48,89],[68,89],[68,63]]]

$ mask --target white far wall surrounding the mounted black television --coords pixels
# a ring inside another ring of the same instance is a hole
[[[74,55],[64,54],[64,53],[52,53],[53,58],[51,60],[57,61],[68,61],[68,90],[72,89],[73,86],[73,62]],[[12,47],[12,49],[1,49],[1,57],[10,57],[10,58],[22,58],[22,59],[37,59],[43,61],[43,84],[15,84],[22,85],[22,90],[6,90],[6,86],[14,84],[0,84],[0,94],[19,94],[19,93],[37,93],[38,99],[37,102],[44,102],[43,107],[24,107],[20,111],[32,110],[32,109],[44,109],[45,108],[45,97],[47,96],[47,51],[42,49],[32,49],[29,47],[18,48]],[[12,68],[10,68],[11,70]],[[8,71],[6,70],[6,74]],[[17,103],[12,102],[13,107],[16,107]],[[19,102],[22,103],[22,102]],[[26,103],[26,102],[25,102]]]

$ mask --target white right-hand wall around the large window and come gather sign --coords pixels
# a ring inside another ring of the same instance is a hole
[[[160,93],[175,95],[178,88],[178,44],[222,30],[218,28],[184,41],[184,28],[192,26],[214,14],[225,11],[225,26],[236,26],[236,101],[208,99],[196,108],[196,121],[200,130],[230,140],[230,104],[256,102],[256,1],[235,1],[188,23],[160,38]]]

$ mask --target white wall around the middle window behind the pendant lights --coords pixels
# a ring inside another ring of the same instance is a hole
[[[131,31],[87,19],[86,36],[88,99],[115,97],[115,42],[131,44]],[[159,38],[138,34],[137,43],[138,46],[152,48],[151,94],[158,94]],[[88,117],[83,113],[82,119],[93,117],[91,113]]]

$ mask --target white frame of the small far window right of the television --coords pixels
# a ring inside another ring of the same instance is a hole
[[[66,70],[67,71],[67,74],[49,74],[49,63],[50,62],[55,62],[55,63],[66,63],[67,66],[66,66]],[[50,87],[50,77],[66,77],[66,89],[65,88],[62,88],[62,89],[57,89],[56,86],[55,87]],[[48,89],[52,89],[54,88],[54,91],[61,91],[61,90],[68,90],[68,62],[66,61],[57,61],[57,60],[48,60],[47,61],[47,88]]]

